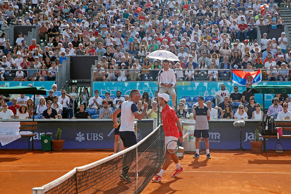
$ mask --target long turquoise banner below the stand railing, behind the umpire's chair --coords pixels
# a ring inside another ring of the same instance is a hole
[[[177,98],[180,100],[182,96],[215,96],[220,90],[220,85],[225,84],[226,90],[230,93],[234,92],[233,87],[236,85],[232,82],[177,82]],[[289,85],[290,82],[260,82],[259,85]],[[246,88],[238,86],[239,93],[242,93]],[[110,95],[116,95],[116,91],[120,90],[122,95],[128,95],[131,90],[138,89],[143,94],[147,91],[150,96],[155,96],[155,91],[158,90],[157,82],[93,82],[93,91],[98,89],[100,94],[104,95],[109,92]],[[171,96],[170,96],[171,98]],[[269,107],[272,103],[274,94],[265,94],[265,107]],[[255,94],[255,101],[263,104],[263,95]],[[169,105],[172,105],[171,100]]]

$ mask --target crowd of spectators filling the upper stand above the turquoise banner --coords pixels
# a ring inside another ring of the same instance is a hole
[[[258,25],[275,28],[283,22],[273,0],[5,0],[0,29],[37,25],[39,41],[26,43],[19,32],[10,45],[2,33],[0,54],[2,68],[17,69],[17,81],[55,80],[58,66],[70,55],[100,56],[96,81],[157,80],[158,71],[147,70],[163,68],[161,61],[147,57],[156,50],[178,56],[169,65],[178,81],[196,80],[200,73],[210,81],[229,76],[229,70],[214,70],[218,68],[267,68],[272,69],[263,71],[268,81],[287,81],[291,49],[285,33],[278,39],[264,33],[260,45],[257,40]],[[25,70],[29,68],[45,70]],[[2,70],[1,80],[7,74]]]

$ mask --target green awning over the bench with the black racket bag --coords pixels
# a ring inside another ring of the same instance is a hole
[[[248,89],[252,90],[252,94],[291,94],[291,85],[252,85]]]

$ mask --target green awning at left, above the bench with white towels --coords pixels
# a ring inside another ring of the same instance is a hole
[[[44,87],[29,87],[29,86],[13,86],[13,87],[0,87],[0,94],[39,94],[47,95]]]

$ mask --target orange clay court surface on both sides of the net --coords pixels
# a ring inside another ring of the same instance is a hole
[[[112,154],[109,151],[0,151],[0,193],[31,193],[74,167]],[[291,151],[253,154],[251,151],[211,152],[180,160],[185,171],[172,178],[172,163],[162,182],[150,182],[142,193],[290,193]]]

